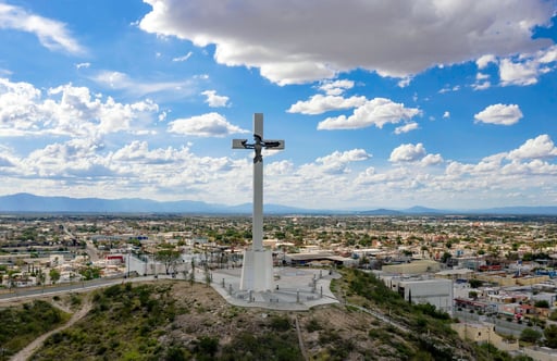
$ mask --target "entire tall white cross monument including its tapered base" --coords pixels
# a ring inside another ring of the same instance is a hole
[[[251,248],[244,251],[242,290],[273,289],[273,257],[263,248],[263,155],[264,149],[284,149],[284,140],[263,140],[263,114],[253,114],[253,144],[247,139],[233,139],[233,149],[253,149],[253,216]]]

